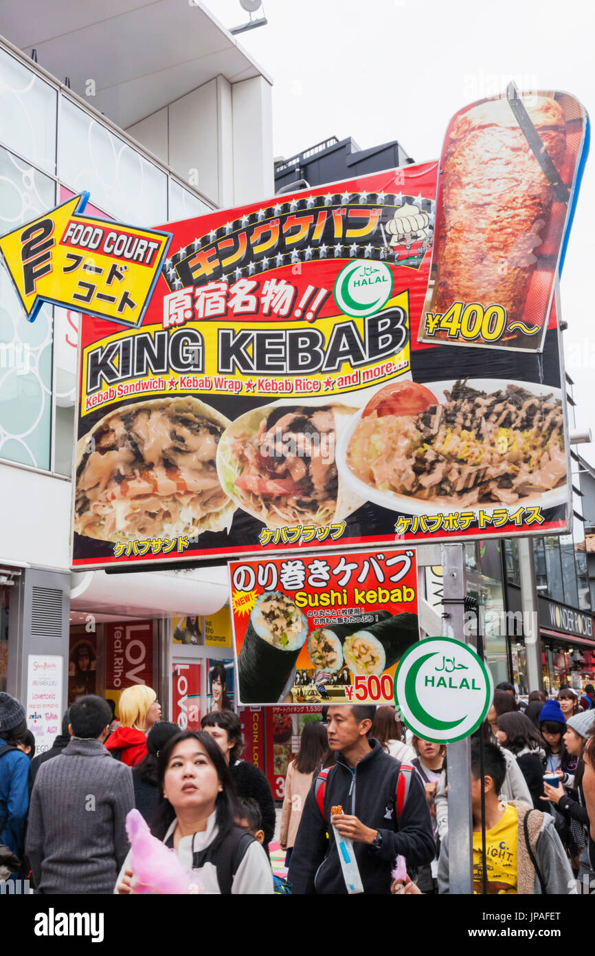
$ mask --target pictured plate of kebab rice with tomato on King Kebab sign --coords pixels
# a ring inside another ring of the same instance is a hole
[[[404,513],[564,501],[559,389],[466,379],[431,387],[393,382],[353,422],[337,461],[356,491]]]

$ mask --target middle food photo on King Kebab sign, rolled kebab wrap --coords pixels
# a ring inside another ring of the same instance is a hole
[[[229,425],[217,450],[223,490],[267,528],[341,521],[364,504],[335,464],[338,434],[353,409],[276,402]]]

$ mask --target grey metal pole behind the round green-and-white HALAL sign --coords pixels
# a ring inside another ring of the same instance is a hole
[[[465,596],[465,552],[462,544],[442,546],[444,597]],[[461,604],[448,606],[444,637],[465,640]],[[471,739],[448,745],[449,892],[473,893],[473,843],[471,814]]]

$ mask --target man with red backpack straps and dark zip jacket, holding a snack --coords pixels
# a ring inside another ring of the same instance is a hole
[[[292,893],[347,893],[332,827],[351,839],[365,893],[391,892],[397,855],[405,857],[410,870],[434,858],[430,811],[416,773],[396,819],[400,763],[368,738],[374,710],[329,706],[327,731],[335,763],[327,777],[324,816],[316,799],[316,775],[304,805],[287,876]],[[331,808],[338,806],[342,813],[331,817]]]

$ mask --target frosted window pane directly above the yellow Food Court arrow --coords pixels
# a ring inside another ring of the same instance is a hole
[[[132,226],[167,219],[167,175],[67,97],[60,98],[58,175]]]

